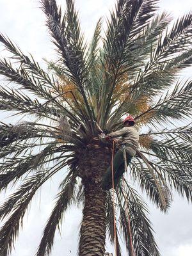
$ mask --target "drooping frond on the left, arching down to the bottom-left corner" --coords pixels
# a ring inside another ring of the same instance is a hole
[[[55,168],[51,168],[50,172],[48,173],[42,172],[38,173],[38,175],[28,177],[28,179],[26,179],[26,182],[20,187],[18,193],[16,193],[13,198],[11,197],[10,200],[5,203],[4,207],[1,208],[1,217],[4,217],[10,213],[10,211],[8,211],[9,206],[17,201],[17,203],[14,204],[12,208],[12,215],[10,216],[10,218],[8,218],[8,220],[6,220],[0,230],[1,255],[7,256],[12,251],[13,242],[19,234],[19,228],[20,225],[22,226],[24,214],[26,213],[28,206],[38,188],[40,188],[47,179],[54,175],[54,173],[58,172],[58,170],[60,170],[61,168],[63,168],[63,161],[62,164],[60,164],[59,166],[56,165]],[[19,194],[21,194],[22,197],[19,196],[18,198]],[[9,204],[9,201],[11,202],[11,204]]]

